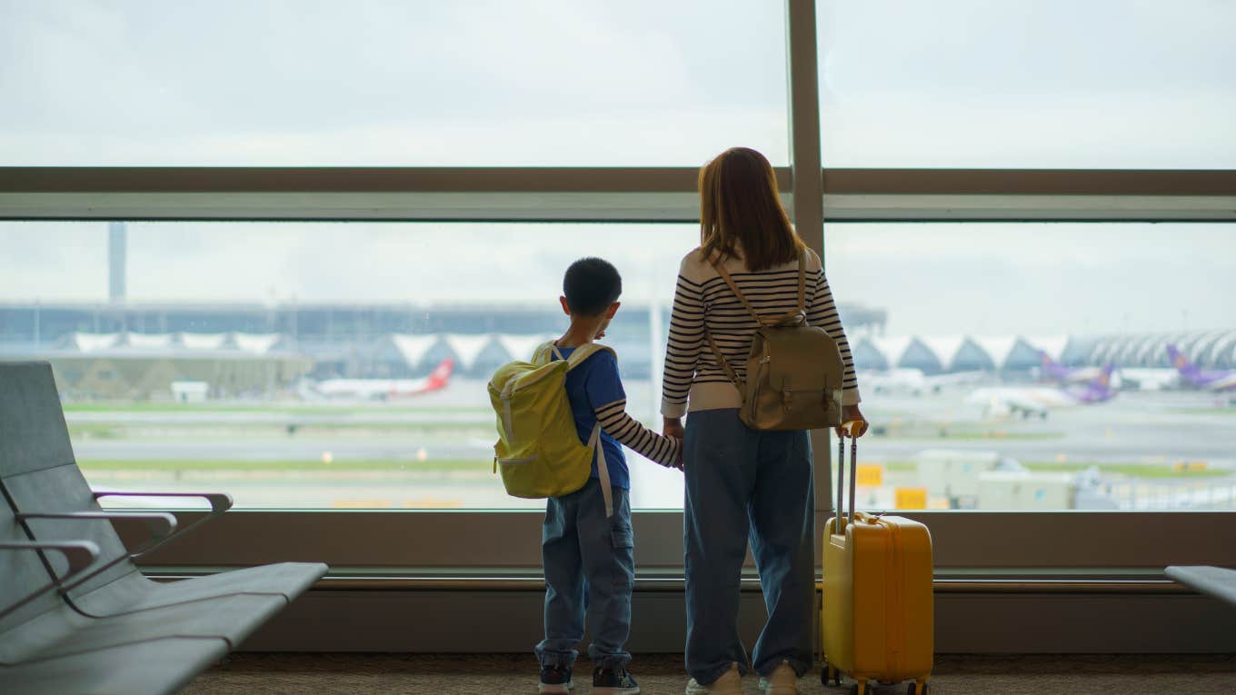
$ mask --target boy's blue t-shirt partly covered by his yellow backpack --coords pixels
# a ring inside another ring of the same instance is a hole
[[[570,357],[575,348],[557,350],[562,357]],[[580,441],[587,444],[592,437],[592,427],[597,424],[596,408],[627,398],[627,392],[622,388],[622,377],[618,376],[618,360],[613,352],[601,350],[566,372],[566,397],[571,401],[571,414],[575,416],[575,429]],[[609,464],[609,485],[630,490],[630,471],[627,469],[627,456],[622,453],[622,444],[606,430],[601,430],[601,445],[606,449],[606,463]],[[592,456],[592,477],[598,477],[596,454]]]

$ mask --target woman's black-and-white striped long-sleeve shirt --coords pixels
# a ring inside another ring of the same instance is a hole
[[[797,308],[797,261],[750,272],[740,257],[729,257],[726,260],[726,270],[761,315],[785,314]],[[842,402],[858,403],[858,380],[854,376],[849,343],[837,315],[837,305],[828,289],[819,256],[813,251],[807,252],[806,272],[807,323],[824,329],[837,341],[845,362]],[[705,326],[739,378],[745,377],[747,354],[759,324],[700,249],[695,249],[682,258],[674,293],[661,381],[661,414],[665,417],[682,417],[687,411],[738,408],[743,403],[738,388],[718,366],[705,338]]]

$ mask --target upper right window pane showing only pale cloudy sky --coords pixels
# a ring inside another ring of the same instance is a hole
[[[826,167],[1236,167],[1236,4],[818,2]]]

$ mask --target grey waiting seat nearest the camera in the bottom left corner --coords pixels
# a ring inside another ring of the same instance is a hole
[[[226,596],[88,617],[63,599],[63,586],[100,561],[88,540],[30,540],[0,501],[0,690],[174,693],[286,605],[281,596]]]

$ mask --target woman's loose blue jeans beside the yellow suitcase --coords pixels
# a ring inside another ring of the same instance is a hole
[[[758,432],[738,409],[687,416],[684,550],[687,573],[687,673],[709,684],[738,662],[738,590],[750,537],[768,622],[755,643],[755,670],[787,659],[802,675],[812,663],[816,608],[815,487],[806,432]]]

